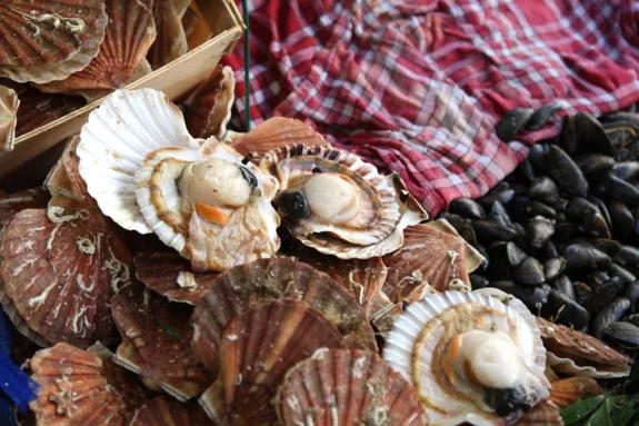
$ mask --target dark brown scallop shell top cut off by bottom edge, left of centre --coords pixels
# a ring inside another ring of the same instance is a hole
[[[141,406],[127,426],[208,426],[213,425],[197,402],[183,404],[158,396]]]

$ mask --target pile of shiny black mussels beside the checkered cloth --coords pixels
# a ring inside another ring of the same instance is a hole
[[[509,111],[505,140],[557,111]],[[447,219],[488,262],[473,288],[496,287],[547,319],[639,345],[639,113],[579,112],[562,131],[478,200],[458,199]]]

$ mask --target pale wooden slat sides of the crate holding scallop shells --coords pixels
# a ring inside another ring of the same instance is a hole
[[[211,40],[173,62],[130,83],[127,89],[152,88],[179,99],[202,81],[233,50],[244,30],[233,0],[194,0],[212,33]],[[102,100],[21,136],[10,152],[0,152],[0,187],[17,190],[41,181],[60,155],[59,145],[79,133],[89,112]],[[47,155],[49,153],[49,155]],[[29,181],[29,182],[28,182]]]

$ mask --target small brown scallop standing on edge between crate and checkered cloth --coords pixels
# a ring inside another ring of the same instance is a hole
[[[231,119],[236,78],[231,67],[218,66],[184,101],[187,127],[196,138],[223,138]],[[234,148],[233,148],[234,149]],[[242,153],[242,152],[240,152]]]

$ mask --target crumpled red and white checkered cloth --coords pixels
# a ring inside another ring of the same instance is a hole
[[[553,100],[606,113],[639,100],[632,0],[252,0],[251,117],[312,123],[397,171],[436,214],[479,197],[548,127],[510,143],[495,125]],[[241,8],[241,4],[240,4]],[[243,118],[243,40],[226,59]],[[236,125],[243,127],[242,123]]]

